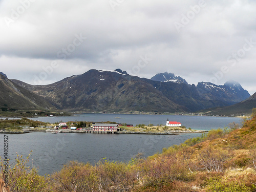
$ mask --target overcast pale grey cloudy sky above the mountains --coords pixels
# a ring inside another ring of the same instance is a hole
[[[256,1],[0,0],[9,79],[49,84],[90,69],[256,92]]]

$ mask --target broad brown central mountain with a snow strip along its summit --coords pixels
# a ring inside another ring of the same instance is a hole
[[[90,70],[47,86],[20,86],[52,99],[60,109],[69,111],[145,111],[185,112],[184,106],[166,98],[152,84],[122,71]]]

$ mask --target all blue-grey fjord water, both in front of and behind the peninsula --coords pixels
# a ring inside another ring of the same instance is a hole
[[[166,119],[180,121],[186,127],[200,130],[217,129],[227,126],[230,122],[239,123],[239,118],[199,117],[199,116],[165,116],[165,115],[117,115],[111,114],[83,114],[76,117],[33,118],[33,120],[56,122],[70,121],[120,121],[129,124],[163,124]],[[147,123],[148,122],[148,123]],[[138,153],[151,156],[161,152],[162,148],[180,144],[186,139],[198,137],[201,134],[180,135],[130,135],[130,134],[83,134],[34,132],[28,134],[8,135],[8,157],[14,162],[16,152],[26,157],[30,151],[29,165],[38,167],[41,175],[51,174],[60,170],[63,164],[71,160],[79,162],[95,162],[106,158],[110,161],[131,160]],[[4,140],[4,135],[0,135]],[[0,156],[4,156],[3,145],[0,145]]]

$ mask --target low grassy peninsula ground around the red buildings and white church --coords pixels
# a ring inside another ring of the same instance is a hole
[[[101,122],[101,123],[116,123],[116,122]],[[34,121],[28,118],[21,118],[21,119],[0,119],[0,133],[28,133],[32,131],[50,131],[55,132],[56,130],[53,129],[55,125],[58,125],[59,122],[55,123],[47,123],[41,121]],[[85,126],[86,130],[92,130],[93,122],[83,122],[83,121],[69,121],[67,124],[70,126],[82,127]],[[26,127],[32,127],[32,129],[24,129]],[[52,127],[52,128],[49,128]],[[126,124],[119,126],[122,131],[118,133],[126,133],[126,134],[178,134],[178,133],[204,133],[205,131],[198,131],[192,130],[190,128],[186,129],[185,126],[177,126],[177,127],[170,127],[164,125],[153,125],[153,124],[138,124],[136,126],[126,126]],[[63,133],[86,133],[85,130],[70,130],[60,129]]]

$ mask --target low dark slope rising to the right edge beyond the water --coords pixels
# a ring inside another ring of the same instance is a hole
[[[256,108],[256,93],[242,102],[222,108],[202,110],[201,112],[211,115],[251,115],[253,108]]]

